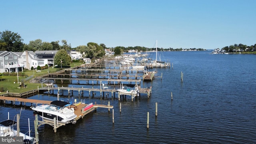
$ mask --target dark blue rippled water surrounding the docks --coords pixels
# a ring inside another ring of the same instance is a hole
[[[173,68],[153,69],[158,76],[162,73],[163,79],[155,78],[141,84],[141,87],[152,86],[152,96],[148,99],[142,95],[133,102],[127,96],[121,100],[121,113],[117,97],[100,98],[96,94],[94,98],[88,98],[85,92],[83,99],[86,103],[107,105],[110,101],[114,106],[114,124],[112,110],[108,113],[108,110],[98,108],[75,125],[58,128],[56,133],[51,126],[41,126],[40,144],[256,143],[256,55],[163,52],[161,59],[170,60]],[[184,73],[183,83],[181,72]],[[48,94],[30,98],[56,100],[56,96]],[[13,118],[20,113],[20,108],[0,106],[0,120],[7,118],[7,112]],[[148,130],[147,112],[150,113]],[[28,131],[28,118],[34,132],[31,110],[22,110],[21,130]]]

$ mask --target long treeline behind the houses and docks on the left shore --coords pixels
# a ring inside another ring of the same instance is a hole
[[[41,39],[36,39],[30,41],[28,44],[23,43],[23,39],[20,34],[11,32],[9,30],[5,30],[0,32],[0,50],[1,51],[12,51],[12,52],[24,52],[25,50],[31,50],[35,52],[36,50],[62,50],[71,51],[72,49],[77,50],[84,57],[88,58],[98,58],[105,55],[104,49],[107,47],[105,44],[96,44],[94,42],[88,42],[87,45],[78,46],[76,48],[72,48],[71,44],[68,44],[67,40],[61,40],[54,42],[42,42]],[[129,50],[138,50],[138,52],[146,52],[156,50],[156,48],[146,48],[144,46],[116,46],[112,48],[108,48],[115,54],[121,54],[122,52],[128,52]],[[181,51],[182,48],[157,48],[158,51]],[[204,50],[201,48],[190,48],[187,50]]]

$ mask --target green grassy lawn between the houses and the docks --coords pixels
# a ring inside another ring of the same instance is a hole
[[[79,62],[73,62],[71,64],[71,67],[74,66],[79,66],[82,63]],[[2,78],[0,78],[0,90],[4,90],[3,92],[0,92],[0,94],[5,94],[6,90],[8,90],[10,93],[22,93],[22,92],[27,92],[29,90],[36,90],[37,86],[42,87],[41,83],[30,83],[29,81],[32,80],[33,78],[35,78],[36,76],[42,76],[44,74],[48,74],[48,71],[50,71],[50,73],[52,72],[56,72],[60,70],[60,68],[48,68],[48,69],[44,69],[41,70],[41,72],[37,72],[37,70],[24,70],[24,76],[19,76],[17,78],[17,76],[2,76]],[[20,81],[24,81],[24,84],[26,85],[26,88],[18,88],[20,87],[20,84],[17,83],[19,79]],[[28,79],[28,80],[26,80]],[[14,83],[15,82],[15,83]],[[45,86],[45,85],[44,85]]]

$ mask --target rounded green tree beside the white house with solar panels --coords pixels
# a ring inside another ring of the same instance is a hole
[[[54,65],[58,65],[58,67],[62,66],[70,66],[71,58],[66,52],[66,50],[59,50],[54,56]]]

